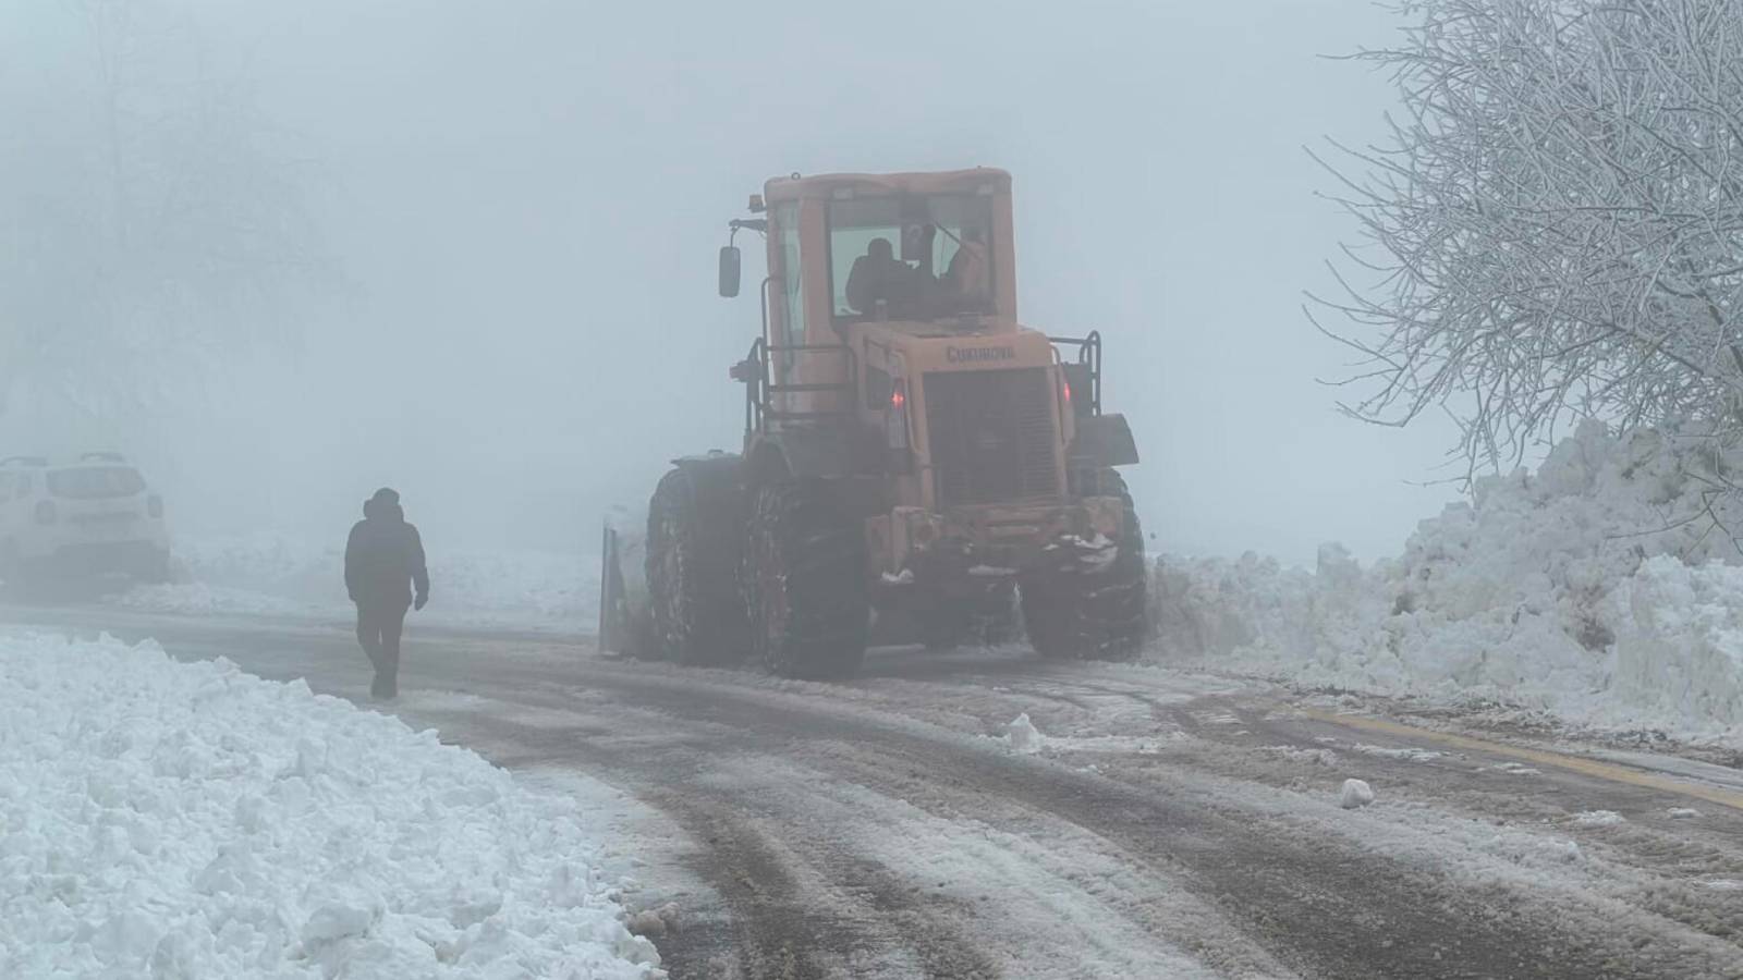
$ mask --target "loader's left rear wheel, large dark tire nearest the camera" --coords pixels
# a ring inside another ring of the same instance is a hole
[[[751,649],[781,677],[849,677],[866,652],[865,535],[823,481],[751,497],[744,548]]]

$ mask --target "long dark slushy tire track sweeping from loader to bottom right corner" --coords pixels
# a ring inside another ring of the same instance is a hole
[[[685,684],[657,673],[601,671],[594,685],[633,696],[687,722],[706,720],[781,739],[854,739],[957,790],[1020,800],[1124,847],[1168,874],[1197,879],[1203,896],[1279,963],[1309,977],[1661,978],[1733,975],[1699,950],[1637,949],[1597,922],[1574,935],[1565,909],[1534,909],[1497,886],[1462,888],[1448,875],[1384,854],[1319,840],[1306,849],[1253,818],[1124,783],[994,753],[976,757],[955,739],[929,739],[910,725],[830,713],[828,704],[770,704],[732,685]],[[861,772],[863,774],[863,772]],[[1508,909],[1497,914],[1497,903]],[[1328,928],[1335,924],[1335,928]],[[1680,961],[1666,963],[1661,956]]]

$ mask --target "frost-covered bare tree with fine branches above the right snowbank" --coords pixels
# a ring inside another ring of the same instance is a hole
[[[1743,434],[1743,0],[1393,9],[1403,44],[1356,58],[1403,113],[1332,164],[1363,171],[1316,296],[1361,354],[1342,406],[1445,408],[1473,466],[1581,417]]]

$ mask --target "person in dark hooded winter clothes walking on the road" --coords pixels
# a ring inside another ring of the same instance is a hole
[[[424,539],[406,523],[399,493],[387,487],[364,500],[363,520],[345,541],[345,591],[357,603],[357,642],[375,666],[370,696],[390,701],[399,694],[406,610],[429,602],[431,575],[424,567]]]

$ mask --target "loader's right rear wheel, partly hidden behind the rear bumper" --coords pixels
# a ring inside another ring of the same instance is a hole
[[[1126,481],[1096,471],[1088,495],[1124,502],[1117,551],[1100,568],[1058,568],[1021,584],[1023,628],[1046,659],[1131,659],[1143,645],[1143,528]],[[1079,493],[1084,495],[1084,493]]]

